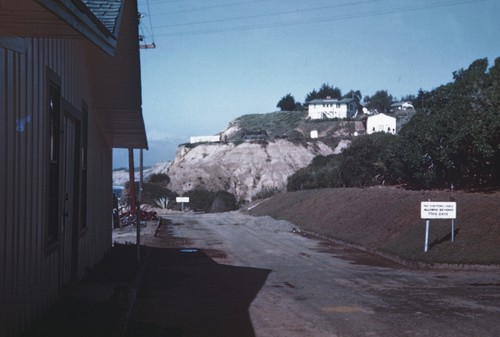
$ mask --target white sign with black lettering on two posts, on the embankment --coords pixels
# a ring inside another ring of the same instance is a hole
[[[457,218],[457,203],[454,201],[422,201],[420,217],[425,219],[424,252],[429,249],[429,230],[431,219],[451,219],[451,241],[455,241],[455,219]]]

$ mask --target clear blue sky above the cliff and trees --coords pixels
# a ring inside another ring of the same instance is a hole
[[[323,83],[400,98],[500,57],[498,0],[139,0],[146,166]],[[114,151],[114,167],[128,165]]]

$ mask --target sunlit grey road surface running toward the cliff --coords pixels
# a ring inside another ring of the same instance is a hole
[[[500,336],[496,271],[409,270],[239,212],[164,218],[219,264],[271,271],[249,308],[255,336]]]

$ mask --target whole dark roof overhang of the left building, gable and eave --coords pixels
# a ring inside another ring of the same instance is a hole
[[[147,149],[137,0],[123,0],[119,16],[111,33],[82,0],[2,0],[0,34],[88,41],[92,106],[109,144]]]

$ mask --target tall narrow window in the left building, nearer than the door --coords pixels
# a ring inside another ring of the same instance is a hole
[[[60,163],[60,134],[61,134],[61,90],[60,87],[49,83],[48,90],[48,198],[46,243],[52,245],[59,239],[59,163]]]

